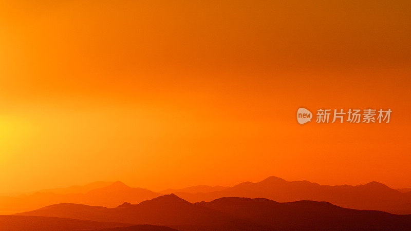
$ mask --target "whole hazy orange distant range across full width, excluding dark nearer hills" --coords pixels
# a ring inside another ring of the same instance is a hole
[[[129,187],[120,181],[96,182],[85,186],[41,190],[15,197],[0,197],[0,213],[9,215],[58,203],[116,207],[123,202],[137,204],[171,193],[192,203],[222,197],[267,198],[278,202],[313,200],[327,201],[347,208],[411,214],[411,191],[401,192],[378,182],[357,186],[329,186],[309,181],[286,181],[277,177],[269,177],[256,183],[244,182],[233,187],[198,185],[160,192]]]

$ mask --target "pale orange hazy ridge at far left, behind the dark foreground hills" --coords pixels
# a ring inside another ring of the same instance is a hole
[[[74,187],[76,190],[86,190],[85,193],[58,194],[52,191],[38,191],[30,195],[20,195],[17,197],[0,197],[0,213],[9,215],[19,211],[27,211],[35,208],[56,203],[79,203],[87,205],[101,205],[105,207],[115,207],[124,201],[139,203],[160,196],[158,192],[153,192],[143,188],[133,188],[117,181],[107,186],[94,188],[98,185],[92,184],[85,187]],[[106,183],[101,183],[105,185]],[[100,184],[100,185],[101,185]],[[58,189],[57,191],[73,191],[73,188]]]

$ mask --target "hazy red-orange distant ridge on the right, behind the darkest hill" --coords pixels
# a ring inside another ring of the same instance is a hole
[[[175,194],[193,203],[222,197],[267,198],[278,202],[313,200],[327,201],[347,208],[411,214],[411,206],[408,206],[411,203],[411,192],[402,193],[375,181],[357,186],[330,186],[269,177],[257,183],[243,182],[220,191]]]

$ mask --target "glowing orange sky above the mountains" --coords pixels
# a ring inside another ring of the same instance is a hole
[[[0,5],[0,192],[274,175],[411,187],[411,3]],[[391,108],[299,125],[298,107]]]

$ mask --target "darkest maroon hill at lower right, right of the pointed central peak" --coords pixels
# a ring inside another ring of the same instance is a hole
[[[328,202],[279,203],[263,198],[220,198],[198,204],[276,229],[399,230],[411,228],[411,215],[348,209]]]

